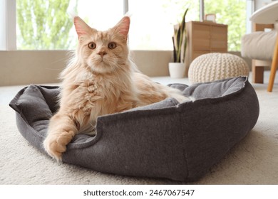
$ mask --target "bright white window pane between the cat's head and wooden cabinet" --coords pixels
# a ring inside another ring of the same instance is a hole
[[[187,7],[186,21],[199,20],[199,1],[129,0],[128,6],[133,50],[172,50],[173,25],[180,22]]]

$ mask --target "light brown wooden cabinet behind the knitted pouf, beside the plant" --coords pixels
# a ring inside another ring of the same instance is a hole
[[[228,26],[212,22],[189,21],[187,28],[186,76],[192,60],[205,53],[227,53]]]

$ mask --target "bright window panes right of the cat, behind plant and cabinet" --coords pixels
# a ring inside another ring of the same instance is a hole
[[[246,33],[245,0],[205,0],[205,14],[216,14],[216,22],[228,25],[228,50],[240,51]],[[199,1],[129,0],[133,14],[130,48],[134,50],[172,50],[173,25],[180,22],[186,8],[186,21],[200,20]]]

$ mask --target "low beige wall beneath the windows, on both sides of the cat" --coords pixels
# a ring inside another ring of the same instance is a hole
[[[167,76],[172,51],[132,51],[139,70],[149,76]],[[66,67],[66,50],[0,51],[0,86],[58,82]]]

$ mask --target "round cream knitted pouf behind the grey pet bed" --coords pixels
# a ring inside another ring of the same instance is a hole
[[[239,56],[229,53],[200,55],[192,61],[188,70],[188,78],[192,84],[248,75],[247,63]]]

